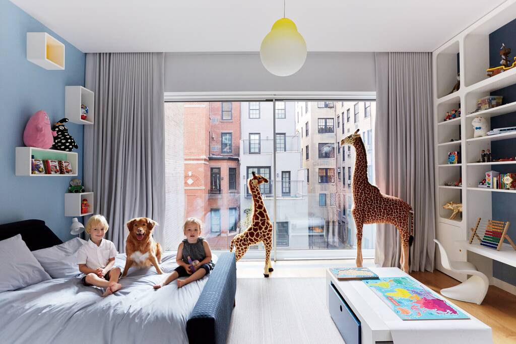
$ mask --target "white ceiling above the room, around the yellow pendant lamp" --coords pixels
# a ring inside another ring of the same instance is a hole
[[[281,0],[11,0],[79,50],[253,52]],[[287,0],[312,52],[433,51],[505,0]]]

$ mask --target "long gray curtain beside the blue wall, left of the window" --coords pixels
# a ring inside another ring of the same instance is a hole
[[[164,54],[86,54],[86,88],[95,93],[94,124],[84,129],[84,185],[106,234],[125,252],[125,223],[165,221]],[[162,241],[163,229],[154,229]]]

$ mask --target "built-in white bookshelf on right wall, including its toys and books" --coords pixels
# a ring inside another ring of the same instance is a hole
[[[511,47],[516,49],[511,34],[515,29],[516,2],[510,1],[433,52],[436,238],[451,260],[472,261],[499,287],[503,283],[496,279],[496,257],[513,254],[516,261],[516,252],[484,254],[482,248],[473,251],[457,243],[469,241],[478,218],[515,221],[516,214],[505,206],[516,201],[516,51],[511,53]],[[453,75],[459,75],[458,89]],[[448,218],[449,202],[460,204],[462,217],[459,213]],[[516,229],[511,230],[516,236]],[[465,279],[444,269],[439,257],[436,267]]]

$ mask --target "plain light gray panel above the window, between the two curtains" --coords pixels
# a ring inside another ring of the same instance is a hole
[[[258,53],[166,53],[165,92],[370,92],[374,53],[309,53],[294,75],[279,77]]]

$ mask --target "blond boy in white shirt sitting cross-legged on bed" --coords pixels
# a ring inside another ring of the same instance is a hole
[[[86,224],[90,239],[77,251],[79,271],[86,276],[81,280],[85,286],[106,288],[103,297],[122,288],[118,283],[120,269],[113,268],[117,249],[115,244],[104,239],[109,225],[102,215],[94,215]]]

